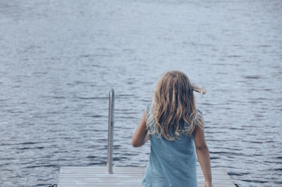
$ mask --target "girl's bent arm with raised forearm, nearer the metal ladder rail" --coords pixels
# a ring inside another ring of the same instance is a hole
[[[131,144],[133,147],[141,147],[149,140],[147,124],[147,110],[144,110],[140,123],[132,136]]]

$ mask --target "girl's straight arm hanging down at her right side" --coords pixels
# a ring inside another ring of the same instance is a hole
[[[202,129],[198,125],[196,127],[194,134],[195,147],[197,157],[204,174],[205,186],[212,187],[211,162],[209,159],[209,148],[207,147],[207,143],[204,140],[204,121],[202,120],[202,117],[200,118],[200,121],[202,121],[203,127]]]

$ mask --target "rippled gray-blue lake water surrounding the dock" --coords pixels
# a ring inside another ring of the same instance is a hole
[[[0,186],[50,186],[63,166],[147,165],[130,138],[159,76],[207,89],[212,167],[282,186],[282,1],[0,1]]]

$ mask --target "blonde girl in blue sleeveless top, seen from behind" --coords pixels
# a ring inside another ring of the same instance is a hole
[[[142,185],[152,187],[197,186],[196,157],[205,186],[212,186],[209,149],[204,140],[204,120],[193,91],[206,93],[179,71],[166,72],[144,110],[132,137],[134,147],[151,141],[151,153]]]

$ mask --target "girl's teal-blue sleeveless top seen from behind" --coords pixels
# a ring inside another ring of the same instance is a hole
[[[150,115],[150,103],[147,117]],[[202,112],[198,110],[202,115]],[[152,129],[149,127],[149,130]],[[151,130],[150,130],[151,131]],[[151,153],[142,185],[147,187],[197,187],[194,137],[180,135],[180,140],[168,141],[150,134]]]

